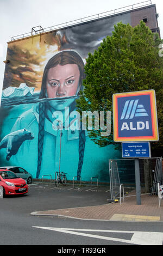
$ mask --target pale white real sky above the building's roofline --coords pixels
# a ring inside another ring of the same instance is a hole
[[[3,60],[7,42],[12,36],[28,33],[32,27],[48,28],[68,21],[104,13],[141,3],[141,0],[0,0],[0,99],[3,86]],[[146,4],[146,3],[144,3]],[[163,1],[152,0],[159,14],[158,23],[163,38]]]

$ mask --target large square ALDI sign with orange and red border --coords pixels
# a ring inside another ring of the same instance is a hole
[[[154,90],[113,94],[114,141],[158,141]]]

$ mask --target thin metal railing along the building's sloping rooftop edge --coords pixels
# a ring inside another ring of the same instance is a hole
[[[134,9],[137,9],[137,8],[146,7],[146,6],[151,5],[151,4],[152,4],[152,0],[149,0],[149,1],[141,2],[141,3],[137,3],[137,4],[131,4],[131,5],[128,5],[126,7],[121,7],[121,8],[118,8],[118,9],[105,11],[104,13],[99,13],[99,14],[87,16],[87,17],[84,17],[84,18],[81,18],[81,19],[68,21],[68,22],[61,23],[61,24],[58,24],[58,25],[54,25],[54,26],[51,26],[51,27],[48,27],[48,28],[42,28],[41,26],[33,27],[32,32],[12,36],[11,41],[22,39],[22,38],[27,38],[28,36],[33,36],[33,35],[37,35],[37,34],[41,34],[41,33],[45,33],[45,32],[55,31],[55,30],[61,29],[61,28],[67,28],[67,27],[78,25],[78,24],[81,24],[81,23],[84,23],[84,22],[87,22],[87,21],[98,20],[98,19],[101,19],[101,18],[106,17],[106,16],[117,15],[117,14],[123,13],[125,11],[131,11],[131,10],[134,10]]]

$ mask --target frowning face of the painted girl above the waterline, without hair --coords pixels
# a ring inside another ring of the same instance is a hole
[[[77,95],[79,78],[80,72],[77,64],[57,65],[49,69],[46,81],[48,98]]]

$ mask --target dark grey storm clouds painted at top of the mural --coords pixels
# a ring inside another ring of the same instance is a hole
[[[72,48],[86,58],[88,52],[92,53],[100,46],[103,38],[111,35],[114,25],[120,21],[126,24],[130,23],[130,14],[113,16],[63,29],[59,33],[61,38],[65,36],[66,40],[65,42],[61,41],[61,50]]]

